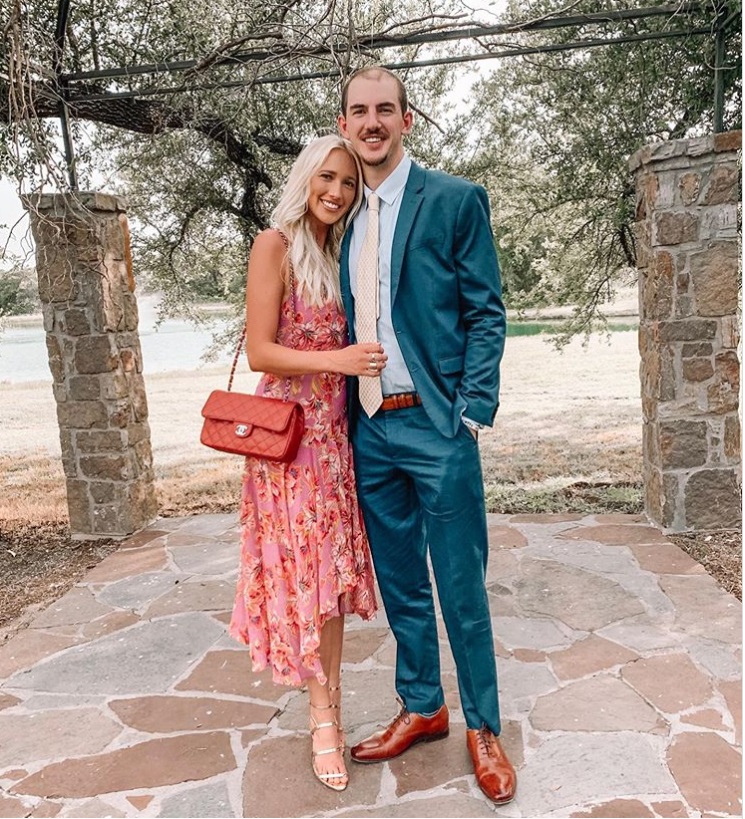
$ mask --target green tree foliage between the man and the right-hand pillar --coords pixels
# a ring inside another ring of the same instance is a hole
[[[634,5],[650,4],[513,2],[508,17]],[[725,40],[724,128],[739,129],[739,4],[719,10],[734,14]],[[693,29],[715,11],[702,4],[689,13],[560,28],[531,35],[530,45]],[[525,43],[525,35],[516,41]],[[479,85],[484,147],[474,173],[493,191],[508,300],[515,307],[577,305],[562,340],[601,322],[599,306],[635,265],[628,158],[651,142],[713,130],[714,49],[713,36],[691,35],[534,54],[503,60]]]

